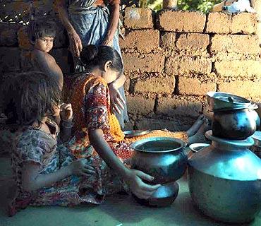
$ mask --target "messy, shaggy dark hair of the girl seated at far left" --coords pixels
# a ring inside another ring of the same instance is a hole
[[[15,79],[6,83],[8,102],[13,101],[19,124],[40,122],[43,117],[52,114],[54,105],[61,102],[56,80],[40,71],[18,73]]]

